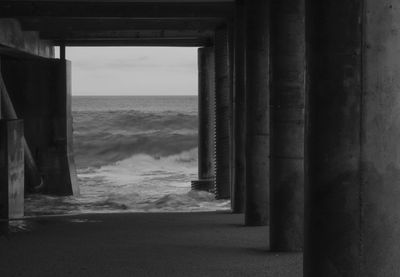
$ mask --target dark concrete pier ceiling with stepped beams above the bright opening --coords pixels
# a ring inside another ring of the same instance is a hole
[[[233,14],[232,0],[0,1],[0,18],[59,45],[208,45]]]

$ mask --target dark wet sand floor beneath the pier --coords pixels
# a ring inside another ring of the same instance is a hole
[[[28,219],[0,236],[0,276],[302,276],[301,253],[268,252],[267,227],[226,213]]]

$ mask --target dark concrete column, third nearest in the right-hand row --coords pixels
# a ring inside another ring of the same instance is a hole
[[[269,223],[269,1],[246,1],[246,225]]]

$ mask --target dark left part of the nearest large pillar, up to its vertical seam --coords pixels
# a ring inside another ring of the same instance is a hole
[[[304,248],[310,277],[361,276],[361,4],[310,3]]]

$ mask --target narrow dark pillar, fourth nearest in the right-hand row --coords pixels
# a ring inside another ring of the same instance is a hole
[[[246,185],[246,83],[245,83],[245,22],[244,3],[236,2],[234,33],[234,163],[232,190],[232,212],[244,212],[244,192]]]

